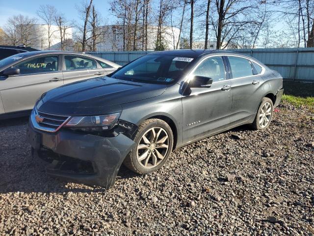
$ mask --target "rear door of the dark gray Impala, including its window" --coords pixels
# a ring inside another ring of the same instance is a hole
[[[240,56],[228,56],[233,86],[231,122],[246,121],[251,118],[263,96],[263,81],[255,73],[252,62]]]

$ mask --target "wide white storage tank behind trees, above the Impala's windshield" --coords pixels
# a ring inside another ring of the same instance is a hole
[[[125,51],[127,51],[127,45],[129,45],[130,50],[133,50],[133,32],[131,32],[130,36],[126,36],[126,41],[123,42],[123,28],[120,25],[109,25],[109,26],[101,26],[99,28],[103,33],[101,37],[98,38],[97,51],[123,51],[123,45],[125,44]],[[163,39],[163,43],[165,44],[165,49],[174,49],[176,47],[177,42],[179,40],[179,32],[178,28],[171,27],[162,27],[161,29],[161,37]],[[136,35],[136,49],[142,49],[142,34],[141,30],[138,30]],[[130,42],[128,42],[128,38]],[[155,50],[156,47],[156,39],[157,39],[157,26],[148,26],[147,33],[147,50]],[[144,44],[145,44],[144,40]],[[175,45],[175,46],[174,46]],[[144,47],[145,48],[145,47]]]

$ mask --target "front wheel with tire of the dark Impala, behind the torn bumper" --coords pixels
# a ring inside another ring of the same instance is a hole
[[[139,125],[134,142],[124,165],[138,174],[148,174],[167,162],[173,147],[173,134],[165,121],[148,119]]]

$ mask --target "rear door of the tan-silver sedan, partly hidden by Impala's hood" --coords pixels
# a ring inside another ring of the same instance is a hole
[[[105,69],[101,68],[95,59],[89,57],[64,55],[63,61],[64,84],[104,76],[106,73]]]

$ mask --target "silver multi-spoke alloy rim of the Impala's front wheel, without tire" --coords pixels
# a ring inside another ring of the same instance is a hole
[[[154,168],[165,158],[168,147],[167,132],[161,127],[150,128],[143,134],[137,145],[137,160],[144,168]]]

